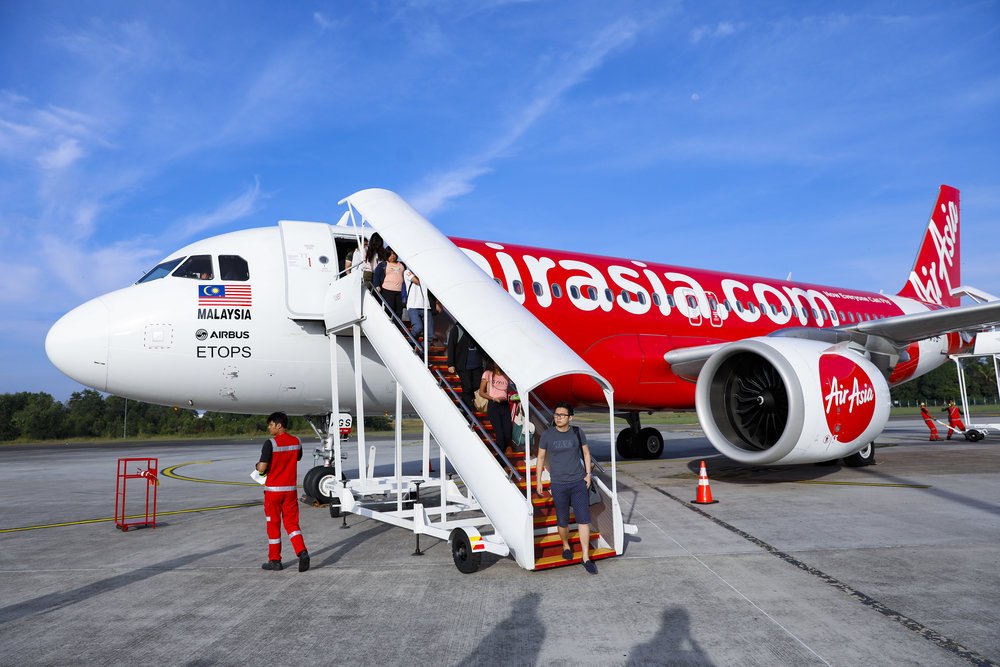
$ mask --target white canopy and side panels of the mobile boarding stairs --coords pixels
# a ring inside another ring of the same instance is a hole
[[[535,388],[557,377],[583,376],[601,387],[612,409],[611,385],[398,195],[363,190],[342,203],[349,209],[343,220],[353,223],[358,214],[362,225],[367,222],[377,230],[385,244],[420,276],[422,285],[508,371],[523,395],[530,396]],[[440,347],[425,364],[416,341],[401,322],[393,321],[378,297],[361,285],[358,271],[329,285],[323,313],[328,333],[359,326],[492,524],[494,534],[484,532],[482,537],[487,544],[500,547],[496,553],[510,553],[528,570],[579,562],[578,548],[574,560],[562,559],[551,498],[527,494],[524,489],[523,456],[506,456],[492,443],[486,415],[471,415],[459,407],[458,378],[442,375],[447,370]],[[613,468],[611,475],[613,489]],[[592,534],[594,558],[621,553],[624,545],[621,508],[609,491],[602,488],[603,505],[594,506],[591,512],[594,523],[611,533]],[[579,537],[575,540],[578,547]],[[612,548],[603,548],[608,546]]]

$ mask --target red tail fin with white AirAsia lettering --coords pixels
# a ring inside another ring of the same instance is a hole
[[[960,297],[951,294],[962,284],[958,200],[956,188],[941,186],[913,270],[899,296],[949,308],[961,302]]]

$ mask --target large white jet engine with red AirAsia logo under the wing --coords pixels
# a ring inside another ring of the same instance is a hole
[[[712,445],[741,463],[816,463],[860,450],[889,420],[889,385],[843,346],[800,338],[726,345],[698,375],[695,406]]]

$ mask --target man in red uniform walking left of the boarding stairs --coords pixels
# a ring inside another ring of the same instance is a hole
[[[267,517],[267,562],[261,565],[265,570],[280,570],[281,526],[292,543],[292,549],[299,557],[299,572],[309,569],[309,552],[306,551],[302,531],[299,530],[299,501],[296,481],[298,462],[302,459],[302,445],[294,435],[285,433],[288,415],[284,412],[272,413],[267,418],[267,431],[271,438],[260,451],[257,472],[267,475],[264,486],[264,514]]]

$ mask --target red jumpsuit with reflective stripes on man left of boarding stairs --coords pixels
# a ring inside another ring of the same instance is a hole
[[[270,450],[270,451],[269,451]],[[268,464],[264,486],[264,515],[267,517],[267,558],[281,560],[281,526],[296,555],[306,548],[299,530],[299,500],[296,480],[302,445],[294,435],[280,433],[264,444],[260,460]]]

